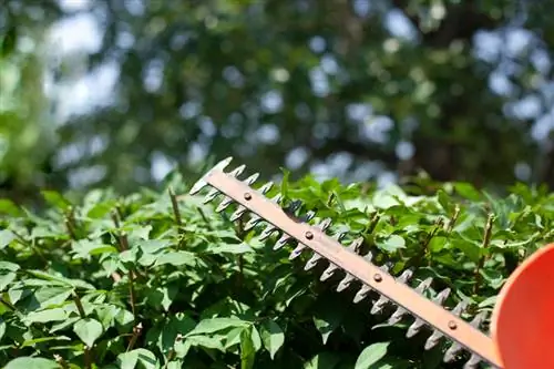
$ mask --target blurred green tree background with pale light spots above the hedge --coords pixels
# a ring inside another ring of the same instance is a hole
[[[3,0],[0,192],[127,192],[227,155],[266,176],[553,188],[552,14],[551,0]]]

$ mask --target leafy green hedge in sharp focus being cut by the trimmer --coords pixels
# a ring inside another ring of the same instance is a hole
[[[412,320],[386,324],[370,303],[337,293],[326,264],[305,271],[276,237],[228,221],[233,206],[187,191],[178,175],[161,192],[119,196],[95,189],[70,201],[43,192],[29,211],[0,201],[0,363],[29,368],[461,368],[441,362],[445,342],[424,351]],[[173,188],[173,191],[168,191]],[[410,267],[432,297],[471,301],[468,319],[491,310],[516,265],[554,239],[554,194],[516,185],[494,197],[464,183],[376,189],[311,177],[274,187],[284,204],[363,235],[377,264]],[[245,217],[247,218],[247,217]],[[358,285],[356,285],[358,286]],[[389,315],[390,311],[386,310]],[[466,359],[466,357],[465,357]]]

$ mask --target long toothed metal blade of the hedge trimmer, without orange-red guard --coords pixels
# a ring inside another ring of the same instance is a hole
[[[355,303],[368,298],[372,291],[378,293],[379,298],[372,305],[372,314],[383,312],[384,307],[389,305],[397,306],[389,318],[389,324],[399,322],[407,315],[413,316],[416,319],[408,328],[407,336],[416,336],[425,326],[429,327],[431,335],[425,341],[425,349],[437,347],[443,338],[450,338],[453,344],[447,349],[444,361],[453,361],[465,349],[471,357],[464,368],[475,368],[481,361],[502,368],[494,341],[480,330],[486,320],[485,312],[478,314],[472,321],[463,320],[461,315],[469,306],[465,300],[460,301],[452,310],[448,310],[443,305],[449,297],[449,288],[439,291],[432,299],[428,299],[422,295],[431,287],[433,281],[431,278],[411,288],[408,281],[412,277],[412,270],[407,269],[396,277],[392,276],[389,273],[391,265],[377,266],[371,262],[371,253],[359,254],[363,238],[357,238],[345,247],[340,242],[348,229],[340,229],[334,236],[328,236],[326,230],[331,224],[330,219],[322,219],[312,226],[307,222],[315,216],[315,213],[309,212],[299,218],[294,216],[299,207],[298,203],[293,203],[287,209],[283,209],[279,206],[279,195],[270,199],[265,196],[271,189],[273,183],[269,182],[258,189],[253,189],[250,185],[257,180],[258,174],[244,181],[237,178],[244,172],[244,165],[225,173],[224,170],[232,158],[228,157],[216,164],[193,186],[189,194],[194,195],[202,188],[211,186],[205,203],[223,194],[224,198],[217,206],[217,212],[224,211],[234,202],[237,203],[238,207],[232,214],[230,219],[237,221],[246,213],[250,213],[250,218],[244,225],[245,230],[266,222],[267,226],[260,234],[261,240],[268,239],[274,233],[280,233],[274,249],[296,240],[298,245],[290,253],[291,259],[310,249],[314,255],[307,262],[306,270],[318,263],[327,262],[328,267],[322,273],[321,280],[328,279],[336,273],[345,273],[337,291],[348,288],[356,281],[361,284],[353,298]]]

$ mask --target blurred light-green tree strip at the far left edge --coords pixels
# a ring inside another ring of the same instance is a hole
[[[44,27],[61,12],[48,2],[7,2],[0,11],[0,195],[28,198],[47,185],[55,144],[44,93]]]

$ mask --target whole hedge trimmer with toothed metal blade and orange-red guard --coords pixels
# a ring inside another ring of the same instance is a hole
[[[412,337],[425,326],[429,327],[431,335],[425,341],[425,349],[437,347],[443,338],[449,338],[453,344],[444,353],[445,362],[453,361],[460,352],[466,350],[471,356],[465,368],[474,368],[482,361],[503,369],[554,368],[554,244],[533,254],[509,278],[497,297],[489,336],[481,330],[485,312],[475,315],[472,321],[462,319],[469,305],[465,300],[448,310],[442,306],[450,294],[448,288],[432,299],[424,297],[423,293],[432,284],[431,278],[411,288],[408,286],[412,277],[410,269],[394,277],[388,271],[389,266],[371,263],[371,254],[359,255],[357,252],[363,238],[357,238],[345,247],[340,240],[346,232],[332,237],[326,234],[330,219],[310,225],[307,222],[315,213],[310,212],[302,218],[294,216],[290,208],[286,211],[279,206],[279,195],[271,199],[265,196],[270,191],[271,183],[254,189],[252,185],[257,180],[257,174],[243,181],[237,178],[244,172],[244,165],[232,172],[224,172],[230,161],[228,157],[216,164],[193,186],[189,194],[194,195],[211,186],[205,203],[223,194],[224,199],[217,206],[217,212],[237,203],[238,207],[230,215],[230,221],[238,221],[250,213],[245,230],[261,222],[268,223],[260,239],[280,233],[275,249],[296,242],[297,246],[290,258],[311,249],[314,255],[305,269],[327,262],[329,265],[321,275],[321,280],[342,270],[345,277],[337,287],[338,291],[358,280],[361,287],[356,294],[355,303],[378,293],[371,308],[373,314],[382,311],[389,304],[397,305],[389,324],[398,322],[407,315],[413,316],[414,320],[408,328],[407,336]]]

